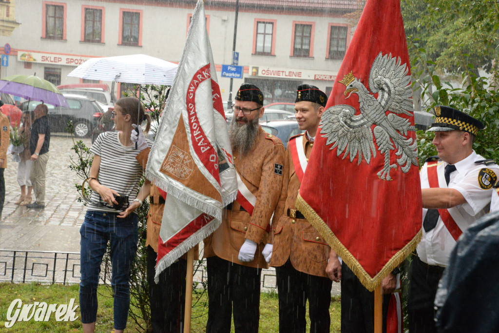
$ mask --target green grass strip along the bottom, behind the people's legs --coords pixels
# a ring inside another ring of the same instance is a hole
[[[78,285],[39,285],[31,284],[0,284],[0,331],[1,332],[81,332],[80,309],[76,309],[78,319],[74,322],[56,322],[55,315],[50,316],[48,322],[16,322],[13,327],[6,329],[4,323],[7,321],[7,311],[10,303],[20,299],[22,304],[33,304],[34,302],[45,302],[47,304],[69,304],[70,299],[75,299],[75,305],[79,304]],[[99,286],[98,288],[99,310],[97,312],[97,326],[95,332],[113,332],[113,299],[110,288]],[[208,320],[208,295],[204,293],[201,297],[193,296],[193,303],[198,302],[193,309],[191,331],[205,332]],[[206,307],[204,306],[206,305]],[[331,300],[329,313],[331,316],[331,332],[340,332],[340,299]],[[143,323],[142,323],[143,324]],[[310,327],[307,311],[307,332]],[[127,332],[142,332],[140,327],[130,318],[128,319]],[[271,333],[279,331],[278,301],[275,292],[262,293],[260,296],[260,323],[259,332]],[[234,332],[234,325],[232,328]]]

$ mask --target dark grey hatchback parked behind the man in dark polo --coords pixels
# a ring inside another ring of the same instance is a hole
[[[103,110],[95,100],[88,97],[74,94],[62,95],[66,98],[69,107],[46,104],[50,131],[66,132],[67,123],[72,120],[76,137],[82,138],[90,135],[98,118],[103,114]],[[29,106],[29,110],[33,111],[38,104],[41,102],[32,100],[28,103],[28,101],[24,101],[21,103],[21,110],[24,111]]]

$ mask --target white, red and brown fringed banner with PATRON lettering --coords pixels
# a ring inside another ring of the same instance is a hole
[[[192,16],[146,177],[168,193],[159,237],[157,278],[220,226],[222,208],[238,193],[202,0]]]

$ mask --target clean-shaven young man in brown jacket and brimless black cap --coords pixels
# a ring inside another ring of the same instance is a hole
[[[305,133],[289,139],[282,190],[272,222],[270,266],[275,267],[282,333],[305,332],[307,300],[310,332],[329,332],[331,280],[339,281],[332,272],[333,264],[340,267],[336,253],[295,207],[326,101],[326,94],[316,86],[300,84],[297,88],[295,116]]]

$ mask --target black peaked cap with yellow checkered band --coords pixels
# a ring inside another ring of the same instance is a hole
[[[485,128],[480,120],[449,106],[437,105],[432,112],[435,114],[435,122],[428,131],[442,132],[458,129],[477,135],[479,129]]]

